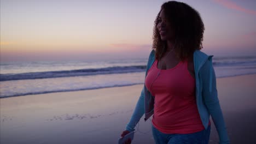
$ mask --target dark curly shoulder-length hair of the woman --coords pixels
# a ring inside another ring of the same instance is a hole
[[[193,55],[195,50],[203,48],[203,25],[200,14],[188,4],[176,1],[165,2],[161,5],[164,9],[166,21],[172,23],[174,29],[174,38],[176,40],[175,53],[180,60]],[[153,46],[156,59],[160,59],[166,52],[166,41],[162,41],[158,31],[158,19],[161,13],[159,11],[154,22],[153,29]]]

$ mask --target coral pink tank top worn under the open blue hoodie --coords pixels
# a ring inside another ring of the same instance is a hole
[[[155,98],[152,124],[165,134],[190,134],[204,129],[196,105],[195,79],[188,62],[167,70],[157,68],[155,60],[145,85]],[[210,125],[210,121],[209,121]]]

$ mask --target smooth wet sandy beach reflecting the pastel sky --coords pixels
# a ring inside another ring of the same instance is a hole
[[[0,143],[117,143],[142,87],[0,99]],[[231,143],[256,143],[256,74],[217,79],[217,89]],[[141,119],[132,143],[154,143],[150,121]]]

